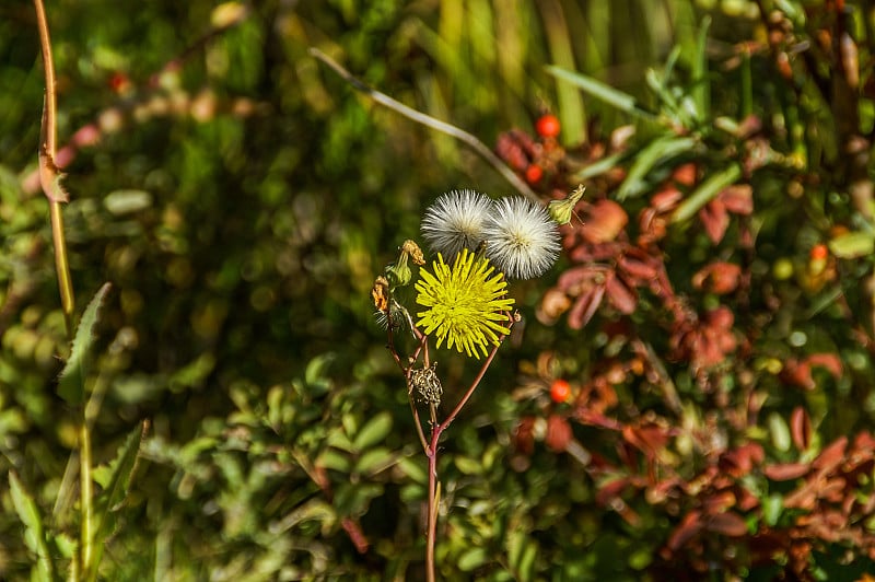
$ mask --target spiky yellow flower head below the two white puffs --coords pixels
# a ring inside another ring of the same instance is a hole
[[[478,348],[487,354],[487,345],[499,342],[499,335],[510,334],[505,312],[513,307],[506,296],[508,282],[501,272],[492,275],[489,259],[477,258],[467,248],[456,255],[451,269],[439,253],[434,273],[422,269],[416,283],[417,303],[425,311],[417,313],[425,335],[435,333],[438,347],[463,349],[479,359]]]

